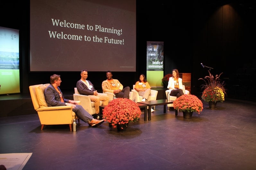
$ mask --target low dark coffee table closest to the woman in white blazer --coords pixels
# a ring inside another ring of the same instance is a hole
[[[151,100],[151,101],[146,101],[146,102],[138,102],[141,104],[146,104],[148,105],[148,120],[151,120],[151,107],[152,106],[157,106],[157,105],[163,105],[163,112],[166,113],[166,104],[172,104],[173,100],[167,100],[167,99],[160,99],[160,100]],[[145,120],[146,121],[146,120]]]

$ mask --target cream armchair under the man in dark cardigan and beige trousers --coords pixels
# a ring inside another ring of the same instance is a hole
[[[94,105],[95,103],[91,101],[90,97],[86,95],[80,95],[79,92],[77,91],[77,88],[75,87],[74,89],[75,89],[75,93],[73,94],[74,100],[79,100],[81,102],[80,105],[83,106],[84,110],[89,112],[91,115],[96,114],[96,109]],[[107,96],[107,94],[103,94],[103,95]],[[103,104],[103,101],[100,101],[100,106],[102,106],[102,104]]]

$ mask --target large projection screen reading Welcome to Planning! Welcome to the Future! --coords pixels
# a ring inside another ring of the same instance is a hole
[[[30,71],[136,71],[136,0],[31,0]]]

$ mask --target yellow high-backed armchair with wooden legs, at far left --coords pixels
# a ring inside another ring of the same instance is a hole
[[[44,91],[49,85],[50,84],[38,84],[29,86],[32,103],[40,119],[41,130],[43,129],[44,125],[69,124],[71,131],[73,119],[77,120],[75,112],[72,111],[72,106],[48,107],[45,100]]]

